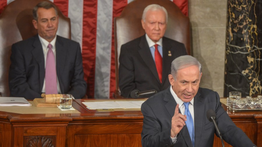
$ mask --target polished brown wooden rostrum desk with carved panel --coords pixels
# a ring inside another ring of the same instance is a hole
[[[74,100],[75,111],[12,106],[18,107],[14,113],[0,107],[0,147],[141,147],[141,111],[89,110],[82,104],[88,100],[92,99]],[[227,113],[254,144],[262,147],[262,111]],[[214,146],[222,146],[217,137]]]

